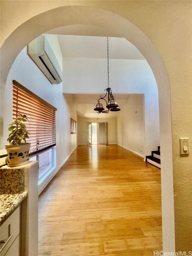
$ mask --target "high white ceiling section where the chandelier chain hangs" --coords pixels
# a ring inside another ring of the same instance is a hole
[[[107,58],[107,37],[57,35],[63,57]],[[145,60],[125,38],[109,37],[109,59]]]

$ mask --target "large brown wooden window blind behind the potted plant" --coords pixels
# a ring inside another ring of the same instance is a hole
[[[13,80],[13,120],[18,113],[29,117],[25,122],[31,143],[30,154],[44,151],[56,145],[56,108]]]

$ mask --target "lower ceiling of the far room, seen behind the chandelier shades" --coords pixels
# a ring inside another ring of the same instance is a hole
[[[117,112],[111,112],[104,114],[97,114],[96,111],[94,111],[94,107],[97,104],[97,100],[100,97],[100,94],[71,94],[73,97],[73,103],[74,107],[77,110],[77,115],[80,117],[85,118],[114,118],[118,116],[119,111]],[[123,108],[123,105],[127,103],[129,97],[134,94],[115,94],[114,97],[117,100],[117,103],[119,104],[120,109]],[[104,95],[103,95],[104,96]],[[106,103],[104,100],[101,100],[101,103],[103,104],[103,107],[105,110]],[[93,112],[93,113],[92,113]]]

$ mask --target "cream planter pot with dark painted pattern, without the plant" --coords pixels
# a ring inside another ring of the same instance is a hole
[[[21,145],[5,145],[9,163],[17,164],[28,160],[31,143]]]

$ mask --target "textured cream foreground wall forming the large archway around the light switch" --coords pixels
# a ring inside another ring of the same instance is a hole
[[[176,250],[190,250],[192,197],[189,191],[192,155],[180,157],[178,138],[189,137],[190,146],[192,145],[192,54],[189,40],[192,27],[191,1],[70,1],[70,6],[68,1],[32,2],[33,4],[23,4],[23,1],[1,3],[1,18],[4,24],[1,31],[1,44],[4,43],[4,51],[1,52],[4,59],[1,63],[4,69],[1,76],[4,79],[20,47],[45,31],[65,25],[69,25],[68,31],[71,31],[72,24],[88,24],[89,28],[91,27],[90,34],[95,32],[93,27],[97,26],[98,30],[102,28],[104,36],[115,31],[118,36],[125,37],[135,44],[147,58],[159,88],[163,250],[175,250],[174,227]],[[63,5],[66,6],[59,8]],[[81,6],[78,8],[73,5]],[[50,9],[52,10],[49,11]],[[14,15],[15,13],[17,15]],[[86,25],[84,31],[87,31]],[[4,80],[2,87],[4,88]],[[2,97],[3,95],[2,93]],[[181,181],[184,186],[181,186]],[[185,207],[186,205],[188,207]]]

